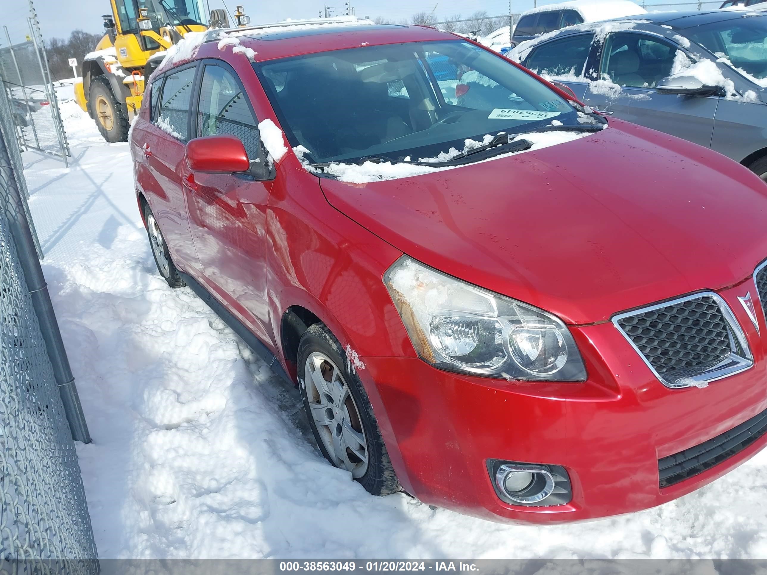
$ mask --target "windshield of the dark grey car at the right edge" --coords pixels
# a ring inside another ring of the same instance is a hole
[[[696,41],[732,66],[758,80],[767,78],[767,17],[749,15],[686,31]],[[767,85],[767,82],[759,82]]]

